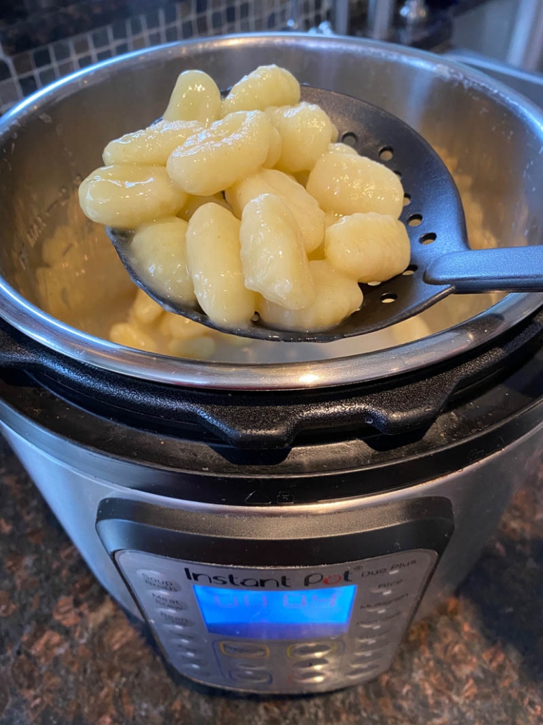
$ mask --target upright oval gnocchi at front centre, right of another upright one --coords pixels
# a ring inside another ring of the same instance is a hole
[[[279,196],[262,194],[245,205],[240,243],[248,289],[290,310],[313,303],[315,284],[300,228]]]

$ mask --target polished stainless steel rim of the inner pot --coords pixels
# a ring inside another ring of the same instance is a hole
[[[543,129],[542,112],[530,101],[487,76],[424,51],[390,46],[387,43],[355,38],[319,38],[298,34],[251,35],[172,43],[138,51],[98,66],[81,70],[53,86],[30,96],[0,120],[0,144],[26,117],[40,115],[51,101],[62,99],[80,86],[101,83],[114,67],[137,65],[153,59],[181,57],[198,47],[227,47],[240,44],[280,43],[283,46],[311,46],[329,49],[330,44],[345,51],[363,49],[366,57],[387,57],[410,65],[431,67],[439,75],[466,80],[473,87],[491,91],[507,99],[508,105]],[[542,132],[543,133],[543,132]],[[364,352],[332,360],[303,363],[216,363],[182,360],[119,347],[67,326],[30,304],[0,276],[0,315],[24,334],[50,349],[104,370],[149,381],[224,389],[303,389],[353,384],[387,378],[424,368],[438,360],[448,360],[493,339],[543,305],[543,294],[510,294],[476,317],[424,339],[376,352]],[[279,344],[279,343],[278,343]]]

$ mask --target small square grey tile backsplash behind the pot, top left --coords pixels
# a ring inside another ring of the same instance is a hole
[[[325,20],[332,3],[333,0],[300,1],[300,30],[308,30]],[[19,4],[22,17],[16,12]],[[56,9],[50,9],[53,5]],[[96,6],[100,12],[83,13],[88,30],[70,33],[70,24],[65,22],[63,11],[75,8],[72,28],[81,28],[81,16],[75,11],[86,11],[89,5],[91,9]],[[12,13],[0,18],[0,112],[56,78],[100,60],[185,38],[283,30],[290,11],[289,0],[132,0],[129,3],[109,0],[107,6],[111,11],[111,22],[96,27],[96,17],[102,21],[106,17],[101,0],[71,5],[67,0],[14,2]],[[130,11],[133,10],[145,12],[132,14]],[[55,25],[54,19],[49,17],[49,24],[43,22],[49,28],[45,44],[43,32],[36,33],[34,38],[31,35],[36,17],[40,15],[54,15],[59,21]],[[25,50],[13,52],[21,47]]]

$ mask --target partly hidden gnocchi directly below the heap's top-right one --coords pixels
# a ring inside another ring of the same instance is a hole
[[[288,173],[311,170],[334,138],[336,129],[328,115],[305,101],[292,107],[269,108],[267,114],[282,141],[277,168]]]

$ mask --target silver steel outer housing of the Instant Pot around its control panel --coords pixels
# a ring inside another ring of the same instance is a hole
[[[132,592],[114,565],[111,555],[106,551],[104,542],[98,536],[98,511],[105,500],[111,502],[112,499],[116,499],[125,504],[130,502],[131,504],[159,507],[162,512],[171,512],[172,515],[184,513],[201,518],[201,521],[214,517],[216,535],[220,534],[220,527],[224,526],[226,530],[230,526],[232,518],[235,518],[237,521],[243,522],[245,531],[257,527],[261,536],[264,536],[279,517],[282,523],[290,528],[292,537],[297,538],[300,530],[305,526],[307,518],[313,519],[319,527],[335,526],[334,522],[340,522],[345,515],[369,515],[372,517],[374,511],[382,510],[383,507],[389,508],[393,512],[397,505],[409,505],[410,502],[417,500],[439,497],[440,500],[450,502],[454,515],[454,531],[445,552],[437,563],[437,568],[429,579],[424,597],[416,609],[416,618],[421,618],[432,613],[439,603],[444,602],[466,576],[479,557],[484,542],[497,526],[515,487],[530,476],[538,475],[541,465],[542,425],[539,425],[522,439],[494,455],[478,460],[463,468],[462,471],[421,484],[413,484],[404,489],[306,507],[273,509],[258,506],[216,506],[130,489],[126,484],[127,482],[130,484],[132,474],[130,468],[126,467],[117,467],[117,471],[115,471],[114,465],[111,465],[108,479],[102,479],[100,476],[96,476],[99,452],[83,450],[70,442],[62,441],[61,447],[52,454],[51,449],[47,450],[43,447],[43,439],[39,443],[33,440],[35,431],[29,432],[28,423],[25,423],[24,426],[25,437],[15,431],[16,428],[20,428],[17,421],[12,419],[10,426],[12,427],[0,424],[0,430],[7,437],[9,444],[20,457],[51,510],[82,553],[90,570],[111,596],[138,618],[142,618],[142,616]],[[393,515],[394,513],[391,513],[391,516]],[[250,534],[247,536],[250,537]],[[304,544],[308,551],[311,550],[313,543],[308,541]],[[255,545],[254,542],[251,544],[250,541],[244,542],[240,539],[240,552],[251,545]],[[274,546],[273,542],[270,542],[270,546]],[[384,537],[382,553],[390,552],[390,549],[387,548],[389,546],[390,542],[387,542]],[[132,547],[125,545],[122,548]],[[135,550],[145,550],[145,548],[139,544]],[[155,550],[153,553],[161,555],[164,552]],[[409,558],[409,552],[407,554]],[[182,551],[180,551],[180,555],[182,555]],[[185,558],[189,557],[185,556]],[[353,549],[348,560],[357,558],[361,558],[361,552]],[[235,572],[236,570],[234,567],[230,567],[229,571]],[[269,571],[268,576],[273,576],[275,571],[273,569]],[[175,616],[175,613],[173,615]],[[156,629],[156,622],[153,621],[152,616],[151,626]],[[168,638],[172,637],[171,632],[155,631],[155,634],[159,641],[161,638],[165,643],[165,654],[171,666],[198,682],[216,684],[205,674],[201,675],[189,670],[190,662],[188,663],[186,659],[176,658],[175,652],[168,651],[168,642],[171,641]],[[191,644],[198,653],[198,637],[193,637]],[[240,689],[244,692],[261,693],[324,692],[337,687],[345,687],[346,684],[356,684],[372,679],[379,674],[379,671],[390,666],[394,653],[395,647],[393,646],[392,650],[387,653],[390,659],[383,664],[380,670],[361,673],[356,678],[351,676],[348,666],[342,666],[340,670],[322,673],[316,682],[294,682],[282,688],[277,688],[274,682],[269,682],[266,687],[239,681],[232,681],[229,684],[228,679],[222,681],[221,686]],[[323,674],[326,676],[323,677]]]

